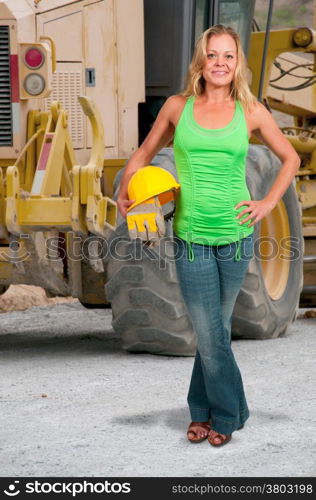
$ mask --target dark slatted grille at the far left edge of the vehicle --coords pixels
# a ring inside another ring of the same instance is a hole
[[[0,26],[0,147],[12,146],[9,26]]]

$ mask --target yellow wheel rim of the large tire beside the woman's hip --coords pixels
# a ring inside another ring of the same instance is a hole
[[[264,217],[260,228],[260,261],[266,290],[272,300],[284,294],[290,273],[290,224],[283,200]]]

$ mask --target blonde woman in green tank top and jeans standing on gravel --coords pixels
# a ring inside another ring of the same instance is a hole
[[[262,200],[251,200],[245,182],[251,134],[282,162]],[[187,437],[220,446],[249,417],[231,349],[231,320],[253,254],[253,226],[278,203],[300,165],[272,115],[251,94],[240,39],[230,27],[216,25],[201,35],[185,91],[167,99],[128,162],[117,200],[124,217],[133,202],[130,177],[172,139],[181,185],[173,225],[176,268],[197,334]]]

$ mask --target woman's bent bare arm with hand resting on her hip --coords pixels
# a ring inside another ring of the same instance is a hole
[[[249,115],[249,122],[251,132],[266,144],[282,162],[281,169],[263,200],[241,201],[235,206],[235,209],[237,209],[242,205],[248,205],[248,208],[238,214],[237,219],[242,218],[249,212],[249,215],[240,224],[252,219],[252,222],[248,225],[248,227],[251,227],[268,215],[282,198],[299,169],[300,157],[263,104],[258,102],[254,106]]]

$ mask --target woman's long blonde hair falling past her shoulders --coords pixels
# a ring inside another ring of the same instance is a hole
[[[231,82],[231,96],[239,100],[247,109],[257,101],[251,93],[247,82],[247,62],[244,51],[241,46],[240,37],[230,26],[216,24],[204,31],[197,40],[194,54],[189,66],[185,89],[180,93],[184,97],[192,95],[202,95],[205,88],[205,80],[203,77],[203,66],[206,59],[206,47],[209,39],[214,35],[230,35],[236,43],[237,47],[237,66],[234,73],[233,81]]]

